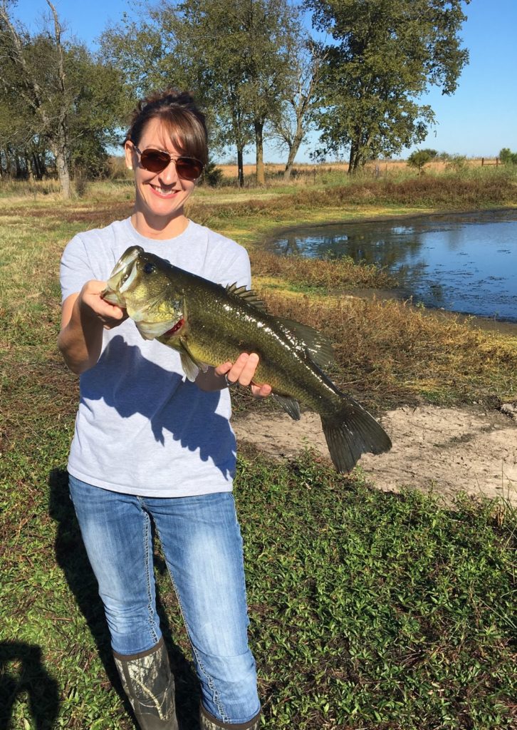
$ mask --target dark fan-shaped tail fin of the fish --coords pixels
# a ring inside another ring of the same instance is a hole
[[[350,472],[363,453],[380,454],[392,447],[382,426],[351,398],[343,399],[332,415],[322,415],[322,426],[338,472]]]

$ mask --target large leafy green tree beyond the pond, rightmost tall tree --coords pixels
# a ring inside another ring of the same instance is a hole
[[[464,0],[468,4],[470,0]],[[319,84],[327,152],[349,150],[349,172],[421,142],[434,113],[429,85],[456,89],[468,60],[460,47],[462,0],[305,0],[333,43]]]

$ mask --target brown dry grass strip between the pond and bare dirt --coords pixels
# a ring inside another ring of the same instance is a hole
[[[484,332],[411,302],[284,296],[265,286],[273,314],[323,331],[336,381],[374,409],[419,402],[497,407],[517,397],[517,339]]]

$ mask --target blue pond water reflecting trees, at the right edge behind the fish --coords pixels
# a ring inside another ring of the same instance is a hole
[[[415,303],[517,322],[517,210],[297,228],[272,245],[387,266]]]

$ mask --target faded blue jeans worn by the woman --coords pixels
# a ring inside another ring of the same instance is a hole
[[[161,637],[152,518],[192,643],[203,707],[225,723],[251,720],[260,702],[233,495],[168,499],[113,492],[72,476],[69,483],[113,650],[137,654]]]

